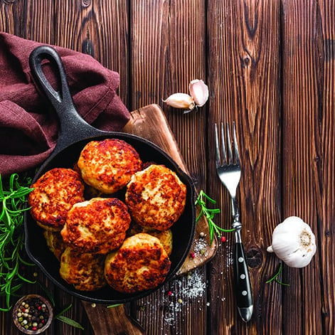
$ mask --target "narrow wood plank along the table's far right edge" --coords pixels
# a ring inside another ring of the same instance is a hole
[[[319,264],[322,278],[320,318],[324,332],[335,332],[334,278],[335,270],[329,260],[335,254],[334,218],[335,218],[335,4],[334,1],[318,1],[319,11],[319,45],[321,48],[321,65],[319,65],[318,85],[321,90],[319,100],[319,147],[321,155],[317,156],[319,172],[320,202],[318,203]],[[321,217],[321,220],[320,220]],[[315,226],[315,225],[314,225]],[[314,270],[317,272],[318,268]],[[308,285],[308,283],[307,283]],[[319,303],[317,304],[319,308]],[[318,322],[319,324],[319,322]],[[312,325],[311,325],[312,326]]]

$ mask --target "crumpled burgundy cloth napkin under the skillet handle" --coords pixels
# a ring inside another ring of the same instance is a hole
[[[0,174],[39,166],[53,151],[58,118],[29,68],[31,51],[41,43],[0,33]],[[90,55],[53,46],[63,61],[73,102],[94,127],[118,131],[130,114],[117,95],[119,74]],[[48,74],[48,62],[43,65]],[[52,76],[51,76],[52,77]],[[53,84],[55,78],[48,80]]]

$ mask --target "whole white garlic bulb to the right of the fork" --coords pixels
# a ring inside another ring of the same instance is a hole
[[[290,216],[273,230],[267,251],[275,252],[289,267],[305,267],[317,251],[315,235],[301,218]]]

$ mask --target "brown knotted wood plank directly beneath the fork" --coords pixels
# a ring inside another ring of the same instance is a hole
[[[243,166],[238,198],[254,297],[252,320],[238,316],[233,294],[233,235],[211,262],[212,334],[282,334],[281,288],[265,285],[276,260],[267,255],[280,222],[280,2],[210,1],[210,189],[230,227],[230,199],[215,175],[214,122],[236,123]],[[223,317],[224,316],[224,317]]]

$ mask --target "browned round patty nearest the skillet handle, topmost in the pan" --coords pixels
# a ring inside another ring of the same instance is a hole
[[[122,139],[105,139],[85,145],[78,168],[86,184],[102,193],[115,193],[142,169],[142,161],[137,151]]]

